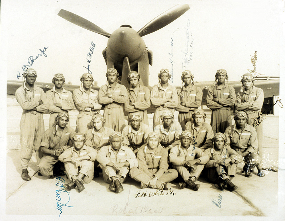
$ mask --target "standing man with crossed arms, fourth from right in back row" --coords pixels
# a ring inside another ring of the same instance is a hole
[[[158,74],[159,84],[150,92],[150,101],[156,108],[153,115],[153,128],[162,123],[160,116],[165,110],[170,110],[174,114],[174,108],[178,105],[177,90],[168,84],[169,78],[169,70],[162,68]]]

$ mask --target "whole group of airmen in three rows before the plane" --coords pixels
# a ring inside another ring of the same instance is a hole
[[[250,73],[243,74],[241,91],[235,94],[226,83],[226,70],[217,70],[207,94],[211,125],[205,123],[206,114],[200,109],[203,93],[194,86],[189,70],[182,72],[183,84],[178,90],[168,83],[168,69],[160,70],[159,83],[151,92],[140,84],[136,71],[128,74],[128,88],[118,83],[118,76],[115,68],[109,68],[107,82],[98,92],[91,88],[93,76],[83,74],[80,88],[71,93],[63,88],[63,74],[55,74],[54,87],[44,93],[34,85],[34,69],[23,73],[23,86],[16,91],[23,108],[23,180],[31,180],[27,167],[33,150],[37,175],[52,179],[66,174],[71,182],[64,187],[77,187],[78,192],[99,176],[100,168],[109,190],[117,193],[123,191],[128,175],[140,182],[141,188],[168,190],[168,183],[176,179],[181,189],[197,191],[200,185],[195,181],[201,173],[217,188],[233,191],[237,186],[231,179],[242,161],[246,177],[251,177],[254,167],[258,176],[264,176],[259,167],[262,124],[253,125],[252,120],[261,110],[263,91],[254,86]],[[146,111],[151,103],[155,106],[152,129]],[[102,105],[103,115],[99,114]],[[233,113],[233,106],[237,113]],[[74,107],[79,112],[75,131],[68,113]],[[175,110],[179,111],[178,121],[174,120]],[[127,125],[124,111],[129,113]],[[50,113],[45,132],[44,112]]]

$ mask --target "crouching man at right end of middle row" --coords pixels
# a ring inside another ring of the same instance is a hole
[[[258,142],[255,128],[247,124],[247,114],[244,111],[237,112],[234,120],[235,124],[225,130],[226,147],[231,147],[243,157],[245,162],[243,171],[246,177],[251,177],[251,169],[254,167],[257,167],[257,175],[264,177],[265,174],[259,167],[261,158],[257,154]]]

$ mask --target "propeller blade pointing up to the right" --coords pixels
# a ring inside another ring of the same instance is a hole
[[[188,9],[189,5],[175,5],[171,9],[168,9],[164,13],[158,15],[155,19],[152,19],[141,30],[138,31],[139,36],[143,37],[154,31],[157,31],[164,26],[168,25],[181,15],[183,15]]]

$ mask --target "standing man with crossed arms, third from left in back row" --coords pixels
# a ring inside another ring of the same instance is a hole
[[[79,111],[75,131],[85,134],[90,128],[89,123],[93,115],[101,109],[102,105],[98,104],[98,91],[91,88],[92,74],[83,74],[80,81],[82,82],[80,88],[75,89],[72,94],[76,109]]]

